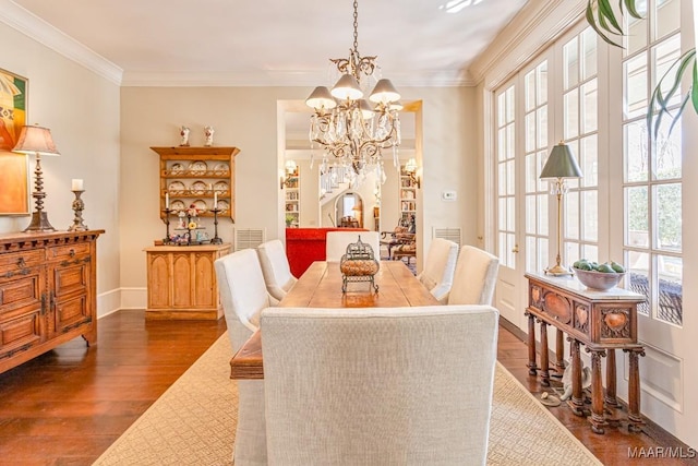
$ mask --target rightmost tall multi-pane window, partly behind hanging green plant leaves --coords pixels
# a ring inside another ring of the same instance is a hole
[[[645,115],[651,91],[681,56],[678,0],[641,2],[647,21],[628,22],[623,60],[624,254],[629,286],[647,296],[638,311],[683,323],[682,134],[664,121],[651,138]],[[676,98],[670,103],[679,105]],[[669,120],[669,119],[665,119]]]

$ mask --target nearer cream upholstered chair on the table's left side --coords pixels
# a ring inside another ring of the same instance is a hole
[[[258,328],[262,310],[278,302],[266,290],[260,259],[253,249],[224,255],[214,262],[214,267],[234,353]],[[264,381],[238,381],[233,462],[237,466],[266,464]]]

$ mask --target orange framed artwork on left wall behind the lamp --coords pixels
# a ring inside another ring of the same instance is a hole
[[[29,165],[12,152],[26,124],[28,80],[0,69],[0,215],[29,214]]]

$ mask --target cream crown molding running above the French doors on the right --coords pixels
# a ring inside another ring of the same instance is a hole
[[[470,67],[473,81],[485,82],[488,88],[495,87],[583,17],[586,7],[587,0],[529,1],[473,61]]]

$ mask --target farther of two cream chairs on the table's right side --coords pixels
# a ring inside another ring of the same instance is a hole
[[[424,259],[424,268],[417,276],[442,304],[448,300],[457,261],[458,244],[447,239],[434,238]]]

